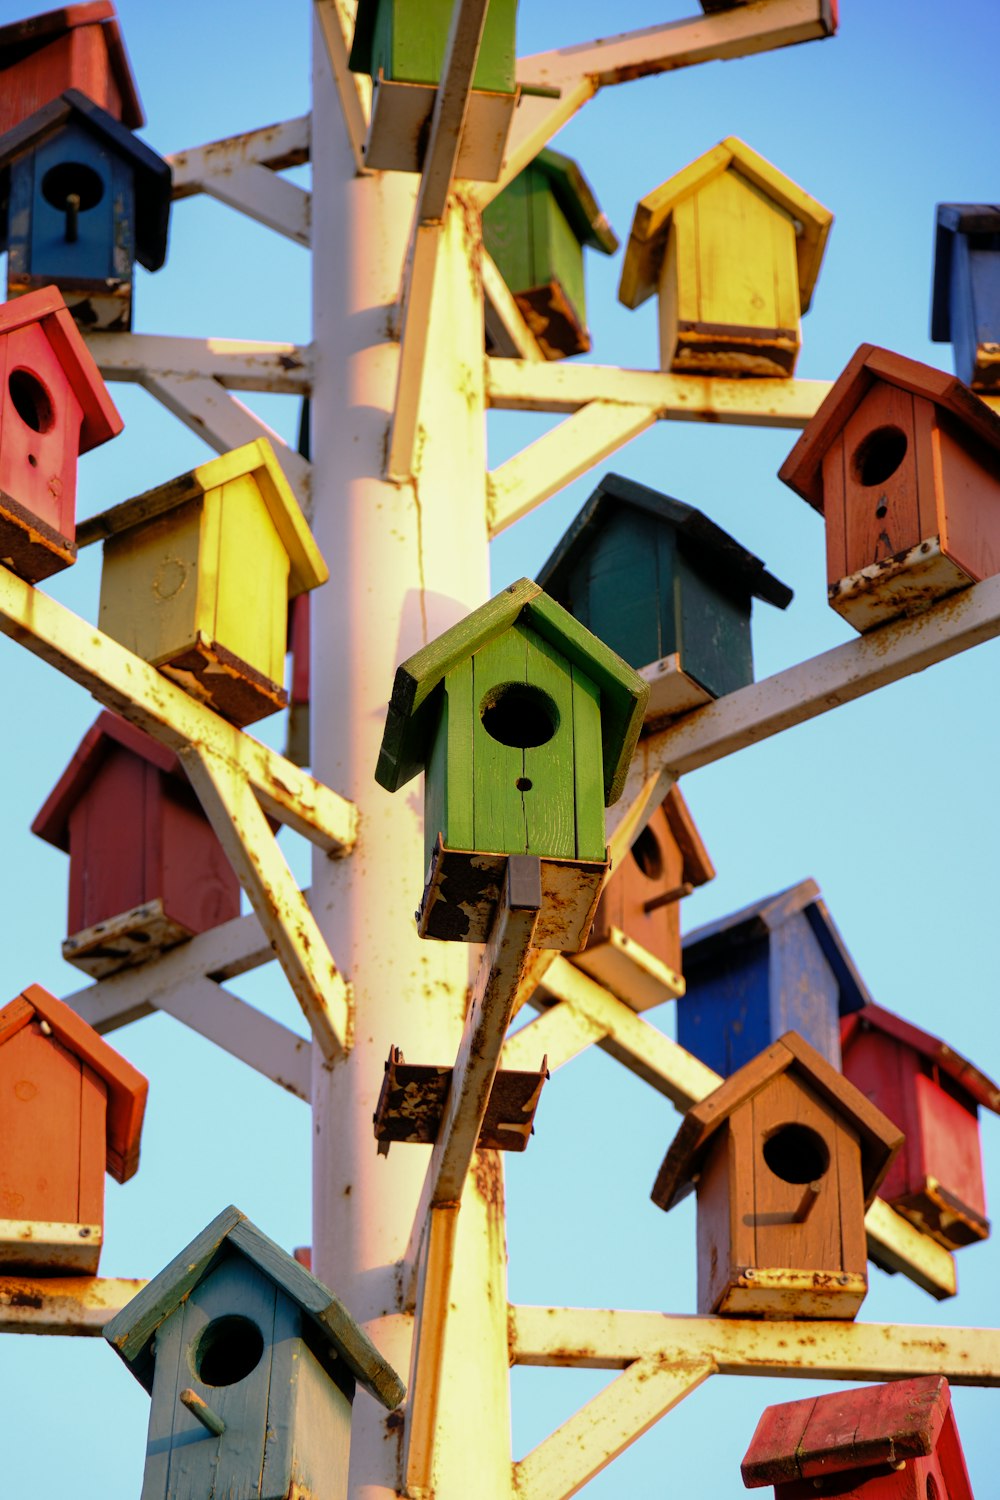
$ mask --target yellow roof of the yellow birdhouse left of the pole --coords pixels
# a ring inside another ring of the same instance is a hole
[[[325,584],[330,570],[267,438],[258,438],[255,442],[246,442],[241,448],[232,448],[217,459],[208,459],[207,464],[199,464],[187,474],[178,474],[177,478],[157,484],[156,489],[147,489],[145,494],[135,495],[120,506],[112,506],[111,510],[105,510],[99,516],[90,516],[76,525],[76,544],[85,548],[93,542],[103,542],[106,537],[132,531],[135,526],[145,526],[189,500],[198,500],[244,474],[250,474],[256,480],[274,531],[288,552],[291,566],[288,597],[294,598],[297,594],[304,594],[307,590]]]

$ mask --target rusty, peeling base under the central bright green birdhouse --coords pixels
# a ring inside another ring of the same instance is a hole
[[[607,860],[541,860],[535,948],[577,952],[586,944],[607,870]],[[505,873],[505,854],[447,849],[438,840],[417,912],[420,936],[445,942],[486,942]]]

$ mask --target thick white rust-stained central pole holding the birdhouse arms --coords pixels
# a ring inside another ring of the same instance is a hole
[[[454,1062],[469,951],[417,938],[421,786],[390,796],[373,770],[396,664],[489,592],[483,312],[475,216],[450,212],[415,472],[406,483],[382,482],[418,178],[355,176],[322,46],[313,36],[312,459],[313,524],[331,579],[313,596],[312,758],[318,777],[357,796],[360,836],[349,870],[325,856],[313,866],[313,910],[354,990],[351,1050],[331,1068],[316,1060],[313,1074],[313,1268],[405,1374],[412,1316],[397,1263],[429,1149],[396,1146],[378,1156],[372,1112],[391,1044],[414,1062]],[[454,1254],[435,1494],[508,1500],[502,1176],[492,1155],[475,1158]],[[399,1418],[358,1398],[351,1500],[397,1494],[400,1464]]]

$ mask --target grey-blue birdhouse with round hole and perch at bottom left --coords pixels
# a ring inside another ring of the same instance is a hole
[[[405,1388],[343,1304],[238,1209],[103,1329],[151,1396],[142,1500],[345,1500],[357,1386]]]

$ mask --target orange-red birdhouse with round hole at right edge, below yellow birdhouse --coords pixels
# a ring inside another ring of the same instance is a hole
[[[930,364],[862,344],[778,478],[825,516],[855,630],[1000,572],[1000,417]]]

